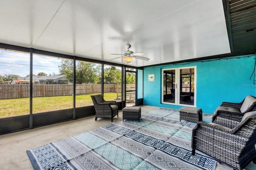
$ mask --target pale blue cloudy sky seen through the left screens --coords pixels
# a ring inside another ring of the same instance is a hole
[[[33,74],[44,72],[47,75],[59,74],[58,57],[46,57],[33,54]],[[30,74],[30,53],[21,53],[0,49],[0,75],[19,75],[26,77]]]

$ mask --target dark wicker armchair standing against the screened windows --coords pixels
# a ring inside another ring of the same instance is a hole
[[[116,115],[118,117],[116,101],[105,101],[102,95],[92,95],[91,97],[96,111],[95,121],[97,121],[98,117],[101,117],[111,118],[111,122],[113,122],[113,117]]]

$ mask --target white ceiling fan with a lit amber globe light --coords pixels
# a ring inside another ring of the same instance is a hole
[[[122,54],[112,54],[112,55],[122,55],[122,57],[124,58],[124,61],[126,63],[130,63],[132,61],[132,58],[142,59],[145,61],[149,60],[149,58],[138,56],[138,55],[144,55],[145,53],[142,53],[142,52],[134,53],[133,51],[129,51],[129,48],[131,47],[130,43],[126,43],[125,47],[127,50],[124,51]],[[121,58],[121,57],[117,57],[117,58]],[[117,59],[117,58],[113,58],[113,59]],[[111,59],[111,60],[113,60],[113,59]]]

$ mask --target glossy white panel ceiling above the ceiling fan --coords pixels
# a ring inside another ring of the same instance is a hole
[[[146,66],[230,53],[222,0],[0,0],[0,43]]]

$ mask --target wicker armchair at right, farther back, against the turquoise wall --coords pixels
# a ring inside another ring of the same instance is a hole
[[[232,119],[236,118],[236,121],[240,122],[245,113],[252,111],[256,111],[256,98],[248,95],[240,103],[223,102],[222,105],[214,111],[214,114],[212,115],[212,122],[216,121],[218,115],[232,117]],[[220,122],[222,122],[221,119]]]

